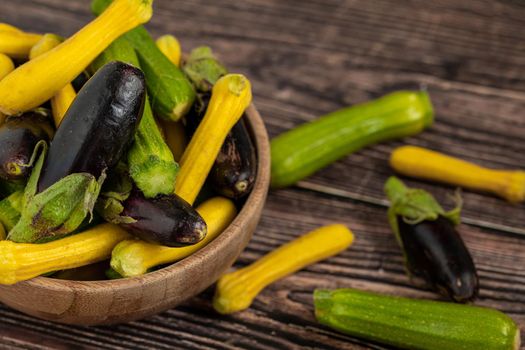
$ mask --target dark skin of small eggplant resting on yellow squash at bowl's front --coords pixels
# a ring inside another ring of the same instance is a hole
[[[142,192],[134,190],[123,206],[124,211],[120,215],[137,221],[120,226],[145,241],[182,247],[199,243],[206,236],[204,219],[177,195],[146,199]]]

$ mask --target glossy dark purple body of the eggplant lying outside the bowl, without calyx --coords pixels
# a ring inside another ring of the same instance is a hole
[[[435,221],[407,224],[398,217],[399,234],[408,269],[441,294],[457,302],[473,300],[479,282],[472,257],[454,224],[439,216]]]

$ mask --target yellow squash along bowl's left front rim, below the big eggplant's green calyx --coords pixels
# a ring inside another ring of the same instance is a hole
[[[43,244],[0,241],[0,284],[14,284],[105,260],[117,243],[130,237],[117,225],[102,224]]]

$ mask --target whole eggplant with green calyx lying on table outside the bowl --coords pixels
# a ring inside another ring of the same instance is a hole
[[[431,194],[409,189],[396,177],[385,183],[385,192],[391,202],[388,220],[408,272],[455,301],[476,298],[476,267],[454,228],[460,221],[461,205],[445,212]]]

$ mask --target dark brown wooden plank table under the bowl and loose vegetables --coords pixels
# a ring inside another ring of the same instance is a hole
[[[91,19],[89,1],[0,2],[0,21],[70,35]],[[495,168],[525,168],[525,5],[336,0],[156,0],[154,36],[173,33],[185,50],[209,45],[251,77],[271,136],[319,115],[405,88],[428,89],[436,122],[424,134],[357,152],[295,187],[270,194],[244,266],[316,226],[343,222],[357,240],[346,252],[270,286],[252,307],[217,315],[212,290],[131,324],[70,327],[0,307],[0,348],[381,348],[318,325],[312,291],[355,287],[438,296],[409,283],[387,220],[387,159],[403,143]],[[452,205],[453,188],[408,181]],[[460,231],[478,267],[476,304],[525,327],[525,210],[464,192]],[[35,300],[35,302],[38,302]]]

